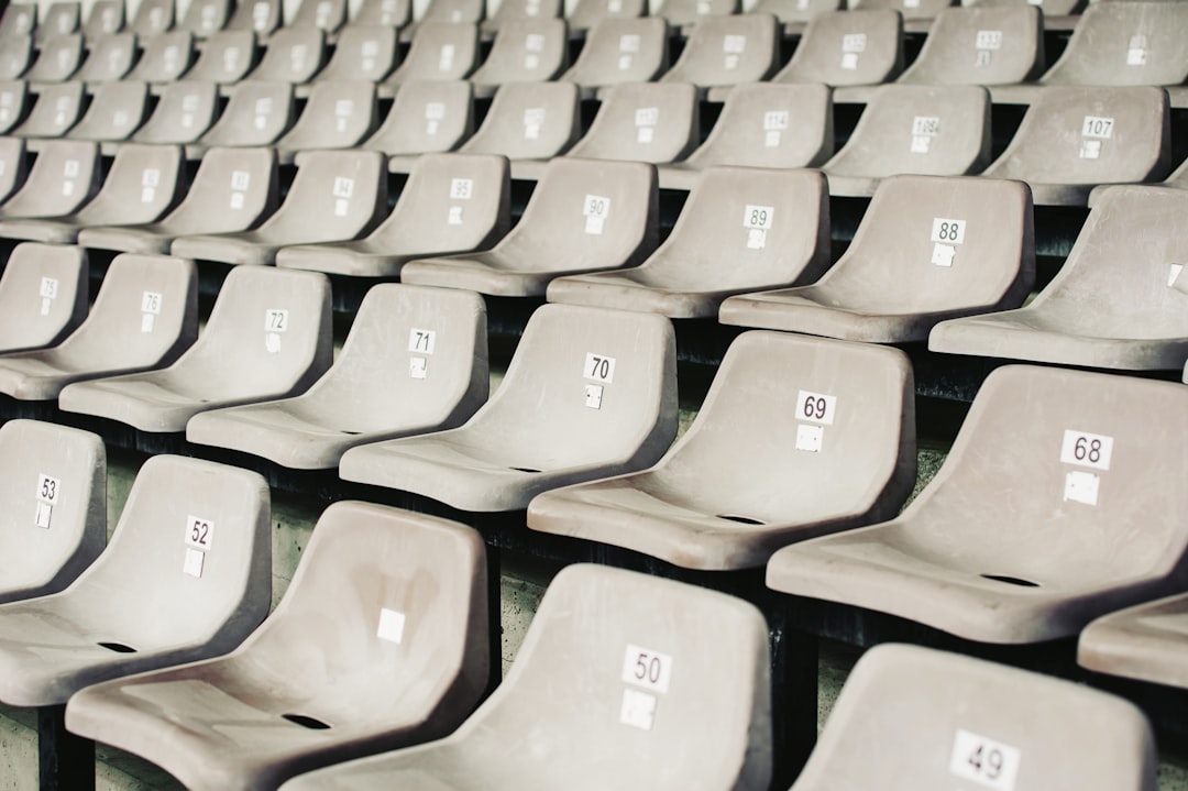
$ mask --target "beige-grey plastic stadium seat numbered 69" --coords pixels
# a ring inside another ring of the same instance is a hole
[[[527,526],[689,569],[763,567],[781,546],[899,512],[916,482],[914,397],[898,349],[744,333],[659,462],[545,492]]]

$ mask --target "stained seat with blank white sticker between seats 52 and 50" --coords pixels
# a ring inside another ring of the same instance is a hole
[[[274,789],[440,738],[479,703],[499,660],[486,645],[484,561],[465,525],[335,502],[277,612],[239,648],[89,688],[70,700],[67,727],[148,758],[194,791]],[[301,667],[295,641],[309,658]]]

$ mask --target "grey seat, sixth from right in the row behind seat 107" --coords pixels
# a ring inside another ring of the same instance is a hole
[[[476,99],[488,99],[500,86],[552,80],[568,65],[565,20],[505,21],[487,58],[470,75],[470,84]]]

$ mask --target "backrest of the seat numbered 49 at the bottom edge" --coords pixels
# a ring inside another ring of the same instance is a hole
[[[895,716],[872,716],[895,711]],[[861,745],[881,745],[871,754]],[[1120,697],[909,645],[851,671],[794,791],[987,787],[1155,791],[1146,717]]]

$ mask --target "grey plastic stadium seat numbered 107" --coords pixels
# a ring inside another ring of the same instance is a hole
[[[1162,88],[1045,88],[982,175],[1041,184],[1161,178],[1170,156],[1169,118]]]

